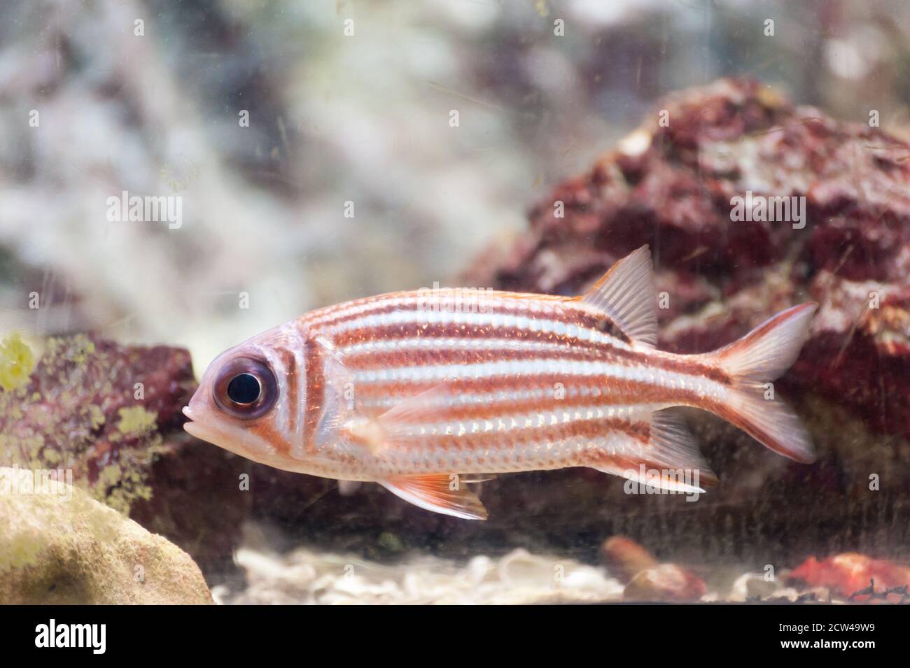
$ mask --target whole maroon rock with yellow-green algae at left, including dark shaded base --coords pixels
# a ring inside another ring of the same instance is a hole
[[[0,464],[71,470],[77,486],[204,569],[229,568],[248,494],[238,457],[183,431],[196,389],[187,350],[87,334],[32,345],[29,356],[13,334],[0,349]]]

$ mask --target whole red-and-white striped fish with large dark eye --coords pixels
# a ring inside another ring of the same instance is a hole
[[[794,363],[817,306],[788,308],[711,353],[659,350],[647,245],[577,296],[381,294],[218,355],[184,427],[254,462],[339,480],[347,493],[378,483],[462,519],[487,518],[470,484],[490,474],[589,467],[702,493],[717,478],[676,406],[814,461],[804,426],[769,384]]]

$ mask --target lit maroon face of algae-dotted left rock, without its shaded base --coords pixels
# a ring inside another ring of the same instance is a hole
[[[0,463],[72,469],[96,499],[128,512],[194,387],[185,350],[49,337],[28,382],[0,393]]]

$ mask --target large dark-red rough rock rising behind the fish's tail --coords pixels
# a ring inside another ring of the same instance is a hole
[[[651,244],[667,293],[660,344],[682,353],[814,299],[821,309],[788,387],[877,433],[910,435],[910,144],[794,107],[755,81],[721,80],[658,108],[668,126],[649,115],[587,174],[557,186],[531,211],[528,233],[482,258],[465,284],[581,294]],[[750,192],[756,202],[804,197],[804,219],[733,221],[734,198]]]

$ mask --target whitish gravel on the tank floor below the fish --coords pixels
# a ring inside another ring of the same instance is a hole
[[[237,563],[247,582],[213,588],[217,603],[618,603],[623,584],[602,566],[523,549],[501,556],[478,555],[467,562],[427,554],[399,563],[308,547],[271,550],[274,534],[256,524],[245,529]],[[766,582],[761,573],[714,569],[701,599],[739,601],[785,599],[802,592]],[[820,593],[821,594],[821,593]],[[821,600],[825,596],[819,596]]]

